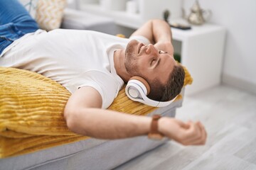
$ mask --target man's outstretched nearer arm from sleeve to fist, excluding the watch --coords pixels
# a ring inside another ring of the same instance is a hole
[[[119,139],[147,135],[151,118],[129,115],[101,108],[102,98],[97,90],[85,86],[70,96],[64,116],[68,128],[80,135],[100,139]],[[201,123],[182,123],[174,118],[159,119],[159,132],[183,145],[203,145],[206,130]]]

